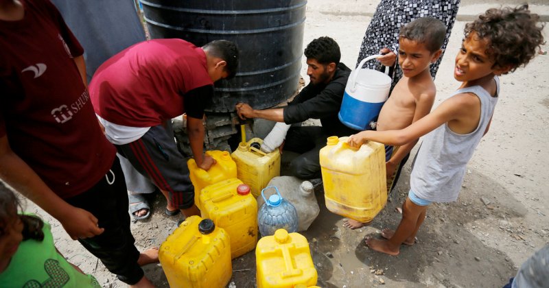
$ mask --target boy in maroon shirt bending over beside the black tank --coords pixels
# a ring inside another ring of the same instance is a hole
[[[91,101],[107,139],[159,187],[169,215],[178,210],[186,217],[199,215],[171,119],[187,115],[194,160],[209,169],[215,160],[202,155],[204,109],[211,103],[213,82],[233,77],[237,64],[238,50],[230,41],[196,47],[180,39],[155,39],[121,51],[93,76]]]

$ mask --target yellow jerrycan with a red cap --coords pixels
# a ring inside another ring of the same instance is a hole
[[[202,217],[229,234],[233,259],[255,248],[257,201],[248,185],[237,178],[217,182],[202,189],[200,203]]]

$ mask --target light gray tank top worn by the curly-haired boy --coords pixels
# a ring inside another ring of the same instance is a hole
[[[423,137],[410,175],[410,189],[421,199],[432,202],[458,199],[467,163],[480,143],[498,102],[500,80],[498,77],[494,80],[496,97],[489,95],[481,86],[462,88],[454,93],[473,93],[480,99],[480,121],[473,132],[457,134],[445,123]]]

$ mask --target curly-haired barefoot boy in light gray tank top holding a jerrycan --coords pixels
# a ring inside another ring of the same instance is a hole
[[[454,67],[454,78],[462,84],[452,97],[403,130],[349,137],[349,145],[358,147],[366,141],[404,145],[427,134],[417,152],[397,230],[383,230],[385,239],[366,238],[369,248],[399,254],[401,244],[414,243],[430,203],[456,201],[467,162],[488,132],[500,95],[498,76],[526,65],[544,43],[538,21],[528,5],[487,10],[465,26]]]

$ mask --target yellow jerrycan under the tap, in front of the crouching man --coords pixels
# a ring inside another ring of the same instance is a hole
[[[252,147],[252,143],[261,145],[263,140],[253,138],[248,143],[241,142],[231,156],[237,166],[237,178],[248,184],[257,198],[273,177],[280,176],[280,152],[274,149],[265,153],[258,147]]]

